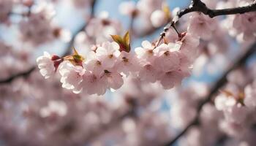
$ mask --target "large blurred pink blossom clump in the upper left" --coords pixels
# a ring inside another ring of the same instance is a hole
[[[55,11],[51,5],[44,3],[41,5],[31,9],[27,16],[20,21],[20,38],[23,41],[31,42],[34,46],[52,42],[54,39],[69,41],[69,31],[53,23]]]

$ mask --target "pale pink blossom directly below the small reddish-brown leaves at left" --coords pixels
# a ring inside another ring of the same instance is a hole
[[[84,72],[82,66],[74,66],[69,61],[64,61],[59,66],[62,87],[72,90],[74,93],[80,93],[83,90],[81,82]]]

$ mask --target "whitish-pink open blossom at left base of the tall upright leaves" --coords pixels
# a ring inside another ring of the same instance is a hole
[[[119,45],[116,42],[104,42],[102,47],[97,47],[96,55],[102,66],[111,68],[116,63],[118,55],[120,55]]]

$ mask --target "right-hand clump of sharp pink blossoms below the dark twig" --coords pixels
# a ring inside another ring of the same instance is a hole
[[[154,48],[144,41],[143,47],[135,48],[140,58],[139,77],[148,82],[159,81],[166,89],[180,85],[181,80],[189,74],[188,58],[182,53],[181,44],[168,43]]]

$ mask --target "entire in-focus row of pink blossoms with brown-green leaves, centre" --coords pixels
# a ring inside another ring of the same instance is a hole
[[[98,45],[89,52],[86,61],[76,50],[74,55],[64,58],[45,53],[37,58],[40,72],[48,78],[58,69],[62,87],[74,93],[83,91],[102,95],[107,89],[120,88],[124,84],[124,76],[129,74],[146,82],[160,82],[163,88],[170,89],[181,85],[181,80],[189,76],[192,58],[188,52],[195,50],[198,45],[197,37],[184,33],[180,41],[159,46],[144,41],[142,47],[135,48],[135,53],[132,53],[129,33],[124,38],[117,35],[112,37],[115,42]]]

